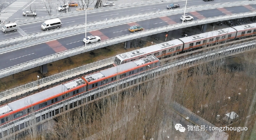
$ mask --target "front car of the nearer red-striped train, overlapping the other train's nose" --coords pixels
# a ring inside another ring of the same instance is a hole
[[[142,71],[159,67],[160,61],[155,56],[147,56],[136,61],[130,61],[116,67],[111,67],[91,75],[84,76],[87,83],[87,90],[93,90],[99,86],[109,84]]]

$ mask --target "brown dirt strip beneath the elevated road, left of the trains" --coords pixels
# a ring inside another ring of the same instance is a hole
[[[151,42],[145,41],[144,47],[147,47],[150,45],[151,45]],[[139,49],[139,47],[125,50],[124,43],[119,43],[119,44],[107,46],[105,48],[101,48],[98,50],[94,50],[91,52],[85,52],[83,54],[58,60],[52,63],[48,63],[47,65],[48,73],[44,75],[40,73],[40,67],[28,69],[26,71],[22,71],[20,73],[16,73],[14,75],[10,75],[8,77],[4,77],[0,79],[0,92],[24,85],[29,82],[36,81],[37,75],[40,76],[40,79],[41,79],[44,77],[55,75],[57,73],[61,73],[69,69],[80,67],[80,66],[93,63],[96,61],[100,61],[103,59],[111,58],[116,56],[117,54],[129,52],[136,49]]]

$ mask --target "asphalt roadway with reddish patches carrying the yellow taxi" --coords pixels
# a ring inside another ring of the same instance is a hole
[[[220,16],[220,15],[228,15],[232,13],[250,12],[255,8],[256,8],[256,5],[251,5],[251,7],[236,6],[232,8],[218,8],[214,10],[189,12],[186,14],[194,16],[194,20],[197,20],[197,19],[203,19],[203,18]],[[128,23],[123,25],[117,25],[115,27],[108,27],[105,29],[88,32],[87,36],[97,35],[101,37],[101,40],[106,40],[108,38],[114,38],[117,36],[131,34],[128,28],[132,25],[141,25],[142,27],[145,28],[145,30],[147,30],[147,29],[157,28],[165,25],[181,23],[182,22],[180,20],[181,15],[183,14],[169,15],[166,17],[159,17],[154,19],[148,19],[145,21],[138,21],[136,23],[134,22],[134,23]],[[70,21],[72,21],[72,19],[70,19]],[[27,27],[27,28],[22,27],[23,30],[29,30],[31,28],[34,29],[33,27]],[[46,42],[46,43],[30,46],[27,48],[23,48],[20,50],[1,54],[0,69],[18,65],[20,63],[24,63],[33,59],[38,59],[43,56],[55,54],[56,52],[62,52],[64,50],[69,50],[72,48],[83,46],[84,42],[82,40],[84,36],[85,36],[84,33],[79,35],[74,35],[74,36],[68,36],[58,40],[53,40],[50,42]]]

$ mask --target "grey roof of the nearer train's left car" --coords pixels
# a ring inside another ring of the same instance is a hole
[[[74,81],[67,82],[65,84],[60,84],[58,86],[54,86],[52,88],[49,88],[47,90],[38,92],[36,94],[27,96],[25,98],[21,98],[19,100],[9,103],[6,106],[8,106],[12,111],[14,111],[14,110],[20,109],[22,107],[26,107],[28,105],[39,102],[41,100],[50,98],[54,95],[60,94],[62,92],[65,92],[71,88],[74,88],[74,87],[79,86],[84,83],[85,82],[82,79],[76,79]],[[0,112],[1,112],[1,110],[7,111],[8,107],[6,107],[6,106],[0,107]],[[7,113],[7,112],[5,112],[5,113]]]

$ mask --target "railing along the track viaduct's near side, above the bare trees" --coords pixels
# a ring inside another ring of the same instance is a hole
[[[51,105],[51,106],[46,107],[40,111],[36,111],[36,112],[31,113],[25,117],[22,117],[20,119],[17,119],[15,121],[12,121],[10,123],[2,125],[0,127],[0,133],[2,134],[1,136],[2,136],[2,138],[14,136],[12,133],[14,133],[14,132],[19,133],[18,131],[22,131],[22,129],[24,130],[27,127],[30,128],[29,121],[36,122],[36,124],[33,124],[32,126],[37,126],[46,120],[50,120],[56,114],[59,114],[61,110],[64,111],[65,105],[67,105],[67,109],[71,109],[73,107],[77,107],[77,105],[79,106],[81,104],[90,102],[91,100],[93,100],[95,98],[104,96],[105,93],[110,95],[110,94],[113,94],[115,91],[119,91],[119,88],[120,89],[125,88],[125,87],[127,88],[129,86],[133,86],[133,84],[143,83],[145,80],[145,77],[147,75],[152,76],[152,77],[148,76],[147,77],[148,79],[153,79],[153,78],[157,77],[157,75],[163,76],[165,74],[168,74],[168,71],[166,71],[166,70],[171,70],[171,69],[182,70],[183,68],[189,68],[189,67],[198,65],[199,63],[205,63],[205,62],[209,62],[209,61],[216,60],[216,59],[222,59],[222,58],[232,56],[235,54],[240,54],[243,52],[255,50],[255,48],[256,48],[255,44],[256,44],[256,41],[254,40],[251,42],[237,44],[237,45],[230,46],[227,48],[221,48],[218,50],[205,52],[203,54],[198,54],[195,56],[191,56],[190,58],[185,58],[185,59],[181,59],[181,60],[178,60],[175,62],[171,62],[171,63],[163,65],[161,67],[157,67],[157,68],[151,69],[149,71],[144,71],[142,73],[132,75],[130,77],[107,84],[105,86],[101,86],[95,90],[91,90],[91,91],[85,92],[83,94],[77,95],[75,97],[69,98],[65,101]],[[153,76],[153,74],[155,76]],[[135,80],[136,80],[136,83],[135,83]],[[133,84],[127,84],[128,82],[131,82],[131,81],[134,81]],[[115,87],[117,87],[117,88],[115,88]],[[109,93],[109,91],[111,93]],[[92,96],[93,96],[93,98],[92,98]],[[76,106],[74,103],[76,104]],[[51,113],[52,115],[49,117],[50,111],[52,112]],[[26,123],[26,125],[24,125],[25,123]]]

